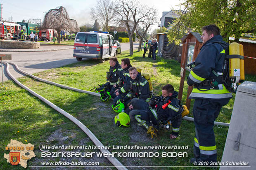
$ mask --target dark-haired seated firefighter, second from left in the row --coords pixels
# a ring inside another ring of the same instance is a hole
[[[126,96],[130,88],[130,75],[128,69],[132,67],[130,65],[129,58],[123,58],[121,60],[121,68],[123,69],[123,75],[119,78],[118,82],[114,85],[115,91],[113,94],[113,105],[116,102]],[[113,108],[113,107],[112,107]]]

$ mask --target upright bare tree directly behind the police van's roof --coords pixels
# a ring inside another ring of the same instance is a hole
[[[97,0],[96,6],[91,8],[91,16],[102,24],[104,31],[108,31],[109,23],[114,18],[114,5],[111,0]]]

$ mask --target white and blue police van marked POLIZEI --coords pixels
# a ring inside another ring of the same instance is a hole
[[[116,56],[117,44],[108,32],[79,32],[74,42],[73,57],[81,61],[90,58],[104,62],[106,58]]]

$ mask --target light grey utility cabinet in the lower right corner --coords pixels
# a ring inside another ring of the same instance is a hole
[[[256,83],[246,81],[237,89],[220,170],[255,170],[255,160]],[[227,161],[234,166],[227,166]]]

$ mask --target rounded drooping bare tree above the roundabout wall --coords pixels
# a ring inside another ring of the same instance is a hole
[[[45,19],[43,21],[40,29],[55,29],[58,33],[58,43],[60,43],[60,31],[67,30],[69,32],[78,32],[80,28],[76,23],[76,20],[69,19],[69,14],[66,8],[60,6],[56,9],[50,9],[45,14]]]

